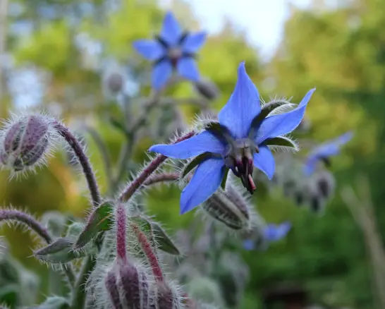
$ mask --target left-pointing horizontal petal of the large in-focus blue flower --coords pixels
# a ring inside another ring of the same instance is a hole
[[[224,145],[208,131],[183,140],[181,143],[172,145],[154,145],[149,148],[151,152],[159,152],[166,157],[174,159],[188,159],[196,157],[204,152],[222,154],[225,150]]]

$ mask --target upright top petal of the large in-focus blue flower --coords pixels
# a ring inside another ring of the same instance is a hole
[[[259,92],[246,73],[245,62],[241,62],[233,94],[219,111],[219,123],[231,131],[233,138],[247,138],[252,119],[260,111]]]

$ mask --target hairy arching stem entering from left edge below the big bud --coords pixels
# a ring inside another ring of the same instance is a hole
[[[19,210],[0,210],[0,222],[1,221],[17,221],[22,222],[35,231],[37,235],[44,239],[44,241],[49,244],[52,242],[52,238],[49,235],[47,229],[40,224],[34,217],[26,214],[25,212],[20,212]],[[73,273],[72,267],[64,267],[63,272],[66,274],[69,284],[73,286],[75,281],[75,274]]]

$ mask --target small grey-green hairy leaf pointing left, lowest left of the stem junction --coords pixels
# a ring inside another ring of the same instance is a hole
[[[92,247],[87,248],[88,252]],[[85,250],[74,250],[73,241],[68,238],[58,238],[48,246],[35,251],[34,255],[38,260],[49,262],[52,264],[65,264],[80,257],[87,255]]]

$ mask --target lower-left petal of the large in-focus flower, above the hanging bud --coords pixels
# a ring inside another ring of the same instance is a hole
[[[224,178],[224,159],[207,159],[197,166],[194,176],[181,194],[181,214],[205,202],[221,185]]]

